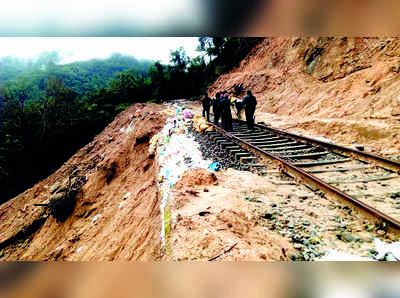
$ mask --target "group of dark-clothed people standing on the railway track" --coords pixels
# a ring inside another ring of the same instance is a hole
[[[206,93],[204,95],[203,117],[210,121],[210,107],[213,107],[214,124],[219,125],[221,118],[221,126],[226,131],[232,131],[232,112],[231,106],[236,108],[236,115],[240,119],[240,113],[244,108],[246,114],[246,122],[249,129],[254,128],[254,112],[256,110],[257,100],[251,90],[247,91],[247,95],[242,99],[230,96],[228,91],[217,92],[215,98],[211,99]]]

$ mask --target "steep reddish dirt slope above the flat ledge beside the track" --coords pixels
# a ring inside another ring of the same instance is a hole
[[[285,116],[391,117],[399,63],[400,38],[266,38],[208,92],[251,89],[265,112]]]

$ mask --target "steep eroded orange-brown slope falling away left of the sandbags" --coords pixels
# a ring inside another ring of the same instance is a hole
[[[163,107],[135,105],[57,172],[0,207],[1,260],[158,260],[161,219],[151,137]],[[48,216],[49,198],[81,187],[65,221]]]

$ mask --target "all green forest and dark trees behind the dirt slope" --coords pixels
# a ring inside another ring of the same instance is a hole
[[[198,57],[179,48],[169,65],[119,54],[66,65],[57,53],[1,59],[0,203],[54,172],[129,105],[203,94],[259,41],[199,38]]]

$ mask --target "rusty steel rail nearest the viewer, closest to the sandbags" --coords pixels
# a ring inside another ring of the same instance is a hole
[[[330,193],[333,193],[334,195],[336,195],[336,196],[338,196],[338,197],[340,197],[340,198],[342,198],[342,199],[344,199],[346,201],[349,201],[349,202],[353,203],[354,205],[362,208],[363,210],[369,212],[370,214],[372,214],[372,215],[374,215],[376,217],[381,218],[382,220],[384,220],[385,222],[387,222],[391,226],[395,227],[396,229],[400,229],[400,221],[399,220],[397,220],[397,219],[395,219],[395,218],[393,218],[393,217],[391,217],[391,216],[379,211],[378,209],[372,207],[371,205],[366,204],[363,201],[358,200],[357,198],[355,198],[353,196],[350,196],[350,195],[344,193],[343,191],[341,191],[340,189],[336,188],[335,186],[330,185],[330,184],[326,183],[325,181],[321,180],[320,178],[318,178],[318,177],[316,177],[316,176],[314,176],[314,175],[312,175],[312,174],[310,174],[310,173],[308,173],[308,172],[306,172],[306,171],[294,166],[290,162],[287,162],[287,161],[281,159],[280,157],[277,157],[277,156],[275,156],[275,155],[273,155],[273,154],[271,154],[271,153],[269,153],[269,152],[267,152],[267,151],[265,151],[265,150],[263,150],[263,149],[261,149],[261,148],[259,148],[257,146],[254,146],[253,144],[251,144],[251,143],[249,143],[249,142],[247,142],[245,140],[242,140],[241,138],[236,137],[235,135],[231,134],[230,132],[225,131],[221,127],[214,125],[213,123],[210,123],[210,124],[214,127],[214,129],[216,131],[219,131],[220,133],[222,133],[223,135],[227,136],[228,138],[230,138],[232,140],[235,140],[235,141],[237,141],[237,142],[239,142],[241,144],[244,144],[245,146],[247,146],[249,148],[252,148],[256,152],[262,154],[263,156],[265,156],[265,157],[267,157],[269,159],[278,161],[286,170],[288,170],[288,172],[291,172],[291,173],[294,172],[296,174],[300,174],[300,176],[302,178],[305,178],[307,181],[311,182],[312,184],[318,185],[322,189],[324,189],[324,190],[326,190],[326,191],[328,191]],[[268,128],[268,129],[270,129],[270,128]]]

